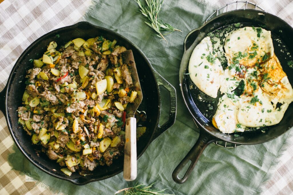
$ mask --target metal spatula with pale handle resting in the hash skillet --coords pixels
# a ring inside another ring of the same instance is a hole
[[[132,50],[127,50],[122,53],[122,59],[124,64],[131,64],[129,70],[131,71],[133,90],[137,92],[137,97],[134,102],[127,105],[127,118],[125,121],[123,177],[126,181],[132,181],[137,176],[136,118],[134,118],[134,114],[142,102],[142,89],[140,87]]]

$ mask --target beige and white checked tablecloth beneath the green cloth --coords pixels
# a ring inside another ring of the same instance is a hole
[[[1,0],[0,0],[1,2]],[[221,7],[230,0],[209,0]],[[293,2],[289,0],[254,1],[265,11],[278,15],[293,25]],[[38,37],[59,27],[76,23],[91,4],[90,0],[5,0],[0,4],[0,89],[20,54]],[[289,138],[293,143],[293,137]],[[3,113],[0,113],[0,194],[53,194],[8,165],[13,152]],[[245,147],[245,146],[243,146]],[[293,194],[293,145],[284,152],[271,180],[263,186],[263,194]]]

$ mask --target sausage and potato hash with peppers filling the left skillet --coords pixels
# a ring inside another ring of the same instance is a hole
[[[126,108],[137,96],[124,46],[103,37],[50,42],[27,71],[18,122],[61,170],[85,175],[123,154]],[[144,113],[137,115],[140,137]]]

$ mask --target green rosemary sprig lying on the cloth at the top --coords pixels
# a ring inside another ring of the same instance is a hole
[[[141,0],[135,0],[140,7],[140,12],[144,17],[146,17],[149,22],[145,23],[149,25],[151,28],[153,28],[158,34],[156,34],[158,37],[161,37],[163,40],[167,42],[165,39],[165,35],[174,32],[174,31],[180,31],[173,26],[171,26],[168,23],[164,23],[160,18],[159,18],[159,12],[161,11],[161,6],[164,0],[145,0],[147,3],[147,6],[142,5]],[[161,31],[169,31],[165,34],[162,34]]]

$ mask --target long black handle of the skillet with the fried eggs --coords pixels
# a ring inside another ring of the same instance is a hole
[[[172,178],[176,183],[183,184],[186,182],[204,149],[215,140],[216,138],[205,132],[205,130],[200,131],[200,136],[196,143],[172,173]],[[189,165],[184,176],[180,179],[179,173],[189,161],[191,161],[191,164]]]

